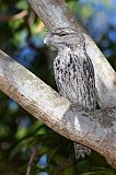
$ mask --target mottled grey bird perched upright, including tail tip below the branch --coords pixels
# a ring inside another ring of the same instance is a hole
[[[71,27],[55,28],[47,33],[44,43],[58,51],[54,71],[60,95],[74,106],[93,110],[96,103],[94,67],[82,33]],[[74,142],[76,159],[90,153],[90,148]]]

